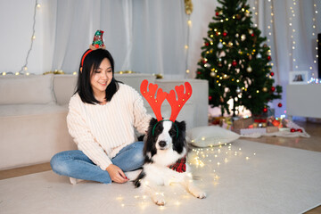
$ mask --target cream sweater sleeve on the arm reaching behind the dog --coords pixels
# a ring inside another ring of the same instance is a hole
[[[141,134],[146,134],[152,116],[147,114],[143,98],[134,90],[134,127]]]

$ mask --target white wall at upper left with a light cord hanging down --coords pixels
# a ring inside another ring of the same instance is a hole
[[[29,53],[30,73],[51,70],[53,58],[52,14],[48,12],[47,1],[40,1],[37,9],[36,39]],[[0,72],[17,72],[25,64],[32,37],[34,0],[0,1]]]

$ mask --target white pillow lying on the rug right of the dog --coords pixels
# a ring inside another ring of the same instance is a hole
[[[186,136],[189,143],[197,147],[228,144],[240,137],[235,132],[218,126],[192,128],[186,131]]]

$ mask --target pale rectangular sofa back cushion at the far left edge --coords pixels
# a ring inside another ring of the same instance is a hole
[[[0,78],[0,104],[54,103],[53,74]]]

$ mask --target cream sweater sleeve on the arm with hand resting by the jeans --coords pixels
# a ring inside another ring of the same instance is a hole
[[[78,145],[78,150],[84,152],[91,161],[105,170],[111,164],[111,160],[87,127],[86,121],[80,113],[81,105],[76,97],[70,99],[69,108],[67,125],[70,136],[73,137]]]

